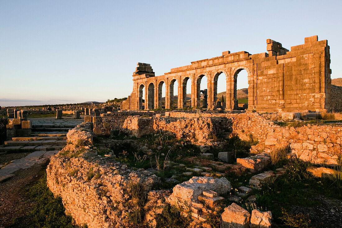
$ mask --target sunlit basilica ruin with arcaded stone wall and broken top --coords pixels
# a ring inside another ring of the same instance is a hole
[[[226,110],[234,110],[238,108],[237,75],[246,70],[250,110],[341,111],[338,105],[341,99],[331,96],[342,91],[340,87],[331,86],[328,40],[318,41],[318,36],[306,37],[304,44],[291,47],[291,51],[272,39],[267,39],[266,43],[267,52],[264,53],[252,55],[246,51],[224,51],[221,56],[193,61],[191,65],[173,68],[159,76],[155,75],[150,64],[137,63],[133,72],[133,92],[123,101],[121,109],[181,109],[186,107],[186,94],[191,93],[193,108],[212,110],[222,105]],[[200,83],[204,76],[208,79],[208,89],[201,91]],[[219,76],[226,78],[224,104],[216,102]],[[191,91],[186,91],[188,81],[191,81]],[[178,88],[174,88],[175,82]],[[163,85],[166,86],[165,95],[161,92]],[[177,107],[172,107],[174,90],[177,90]],[[200,107],[201,93],[205,100]],[[161,105],[163,97],[165,107]]]

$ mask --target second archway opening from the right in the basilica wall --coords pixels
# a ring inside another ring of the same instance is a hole
[[[231,98],[227,99],[227,79],[226,75],[221,71],[214,76],[213,84],[213,107],[225,109],[227,102],[231,102]]]

